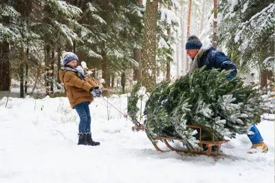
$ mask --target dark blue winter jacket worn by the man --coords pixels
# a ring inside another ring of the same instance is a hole
[[[225,54],[221,51],[217,51],[214,47],[210,47],[207,49],[201,58],[198,59],[198,66],[201,68],[206,65],[206,69],[212,69],[212,67],[216,69],[225,69],[225,70],[233,70],[230,74],[226,76],[226,78],[231,79],[236,76],[236,66],[233,64],[231,60],[225,56]]]

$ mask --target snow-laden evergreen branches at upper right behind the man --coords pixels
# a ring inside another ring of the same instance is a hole
[[[263,70],[263,61],[274,62],[274,1],[221,1],[219,45],[241,71]],[[234,33],[234,34],[232,34]],[[272,59],[273,58],[273,59]]]

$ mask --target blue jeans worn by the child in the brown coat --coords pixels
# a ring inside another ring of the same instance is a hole
[[[74,106],[74,109],[76,110],[80,118],[78,132],[91,132],[91,114],[89,110],[89,102],[83,101],[82,103],[79,103],[76,106]]]

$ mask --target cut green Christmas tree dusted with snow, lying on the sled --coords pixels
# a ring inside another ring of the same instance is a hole
[[[152,143],[155,136],[180,138],[188,148],[196,148],[197,131],[187,125],[201,127],[201,140],[220,141],[246,134],[250,125],[259,123],[258,90],[241,77],[227,80],[229,72],[203,67],[173,83],[157,84],[144,109],[144,127]]]

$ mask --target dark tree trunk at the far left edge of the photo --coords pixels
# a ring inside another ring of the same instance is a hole
[[[10,47],[8,42],[0,42],[0,90],[10,90]]]

